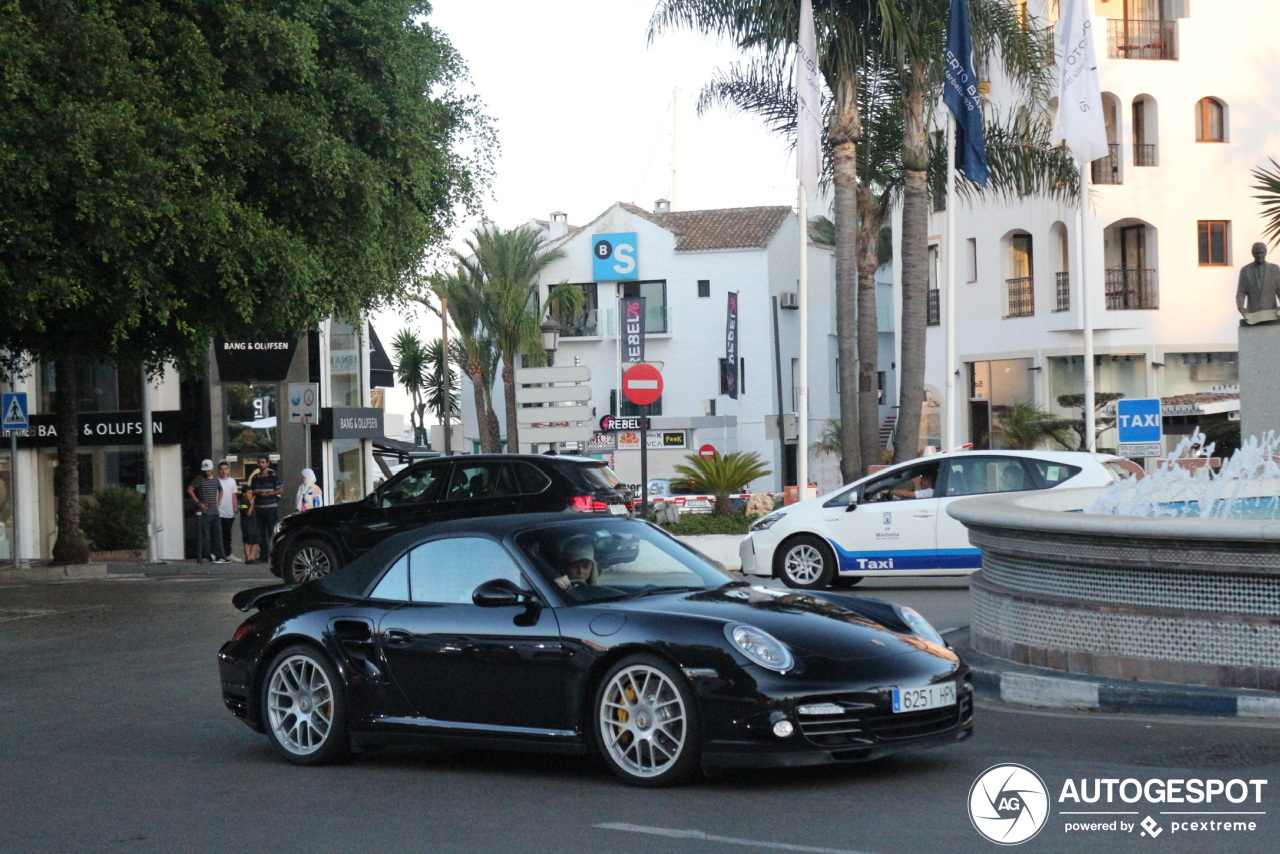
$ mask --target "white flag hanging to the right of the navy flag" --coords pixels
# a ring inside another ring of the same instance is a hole
[[[1080,163],[1107,155],[1107,125],[1098,90],[1098,63],[1093,55],[1092,3],[1060,0],[1057,36],[1057,122],[1053,134]]]

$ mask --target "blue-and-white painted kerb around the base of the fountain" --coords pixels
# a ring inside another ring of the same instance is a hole
[[[1280,722],[1280,694],[1243,689],[1198,688],[1166,682],[1073,676],[992,658],[969,647],[969,629],[947,632],[947,643],[973,670],[979,697],[1037,708],[1239,717]]]

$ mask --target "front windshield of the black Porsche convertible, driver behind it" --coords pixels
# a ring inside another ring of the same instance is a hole
[[[707,558],[645,522],[572,521],[525,531],[516,545],[571,604],[733,583]]]

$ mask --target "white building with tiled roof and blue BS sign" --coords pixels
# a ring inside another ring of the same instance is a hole
[[[721,452],[754,451],[773,474],[753,489],[781,489],[795,483],[796,429],[786,419],[786,443],[778,440],[777,414],[794,416],[799,360],[800,234],[790,207],[735,207],[671,211],[666,202],[646,211],[618,202],[580,228],[557,213],[545,225],[548,247],[564,257],[541,275],[541,297],[549,286],[568,282],[582,288],[585,307],[553,316],[561,338],[556,364],[591,370],[590,407],[594,419],[613,412],[636,415],[626,399],[617,406],[621,378],[618,300],[645,297],[645,361],[662,365],[662,399],[650,410],[649,476],[671,476],[673,466],[703,446]],[[594,247],[600,236],[620,236],[621,271],[600,274]],[[823,423],[838,412],[836,384],[835,255],[829,247],[808,245],[809,252],[809,437],[817,439]],[[634,264],[631,262],[634,260]],[[737,399],[726,393],[728,294],[739,294]],[[777,300],[778,348],[774,350]],[[776,352],[780,357],[776,357]],[[777,365],[781,362],[781,385]],[[781,394],[781,410],[780,410]],[[500,394],[495,394],[500,406]],[[475,412],[462,394],[463,425],[475,437]],[[499,419],[500,419],[499,412]],[[639,437],[598,435],[588,452],[611,461],[620,476],[640,483]],[[786,451],[783,451],[786,447]],[[521,442],[527,451],[527,440]],[[540,448],[539,448],[540,449]],[[810,479],[822,487],[838,483],[833,457],[810,457]]]

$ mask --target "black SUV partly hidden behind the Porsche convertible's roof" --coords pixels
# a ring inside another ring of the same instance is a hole
[[[271,571],[291,584],[349,563],[393,534],[445,519],[579,511],[630,513],[631,493],[599,460],[466,455],[415,462],[364,501],[285,516]]]

